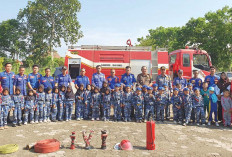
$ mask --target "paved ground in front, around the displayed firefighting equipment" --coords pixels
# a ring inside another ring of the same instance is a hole
[[[92,150],[85,150],[82,131],[93,129]],[[107,149],[101,150],[101,130],[107,130]],[[70,150],[71,132],[76,132],[75,150]],[[9,127],[0,132],[0,145],[18,144],[19,150],[6,156],[232,156],[232,129],[215,126],[181,126],[173,122],[156,124],[156,150],[146,150],[146,124],[135,122],[69,121],[28,124]],[[26,144],[55,138],[61,149],[54,153],[38,154],[25,150]],[[114,150],[123,139],[131,141],[134,150]]]

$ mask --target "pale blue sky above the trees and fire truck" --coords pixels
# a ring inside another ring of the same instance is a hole
[[[127,39],[132,44],[137,38],[148,35],[149,29],[185,25],[190,18],[203,17],[232,0],[79,0],[81,11],[78,20],[84,37],[75,46],[123,46]],[[0,0],[0,22],[16,18],[28,0]],[[68,45],[55,48],[65,56]]]

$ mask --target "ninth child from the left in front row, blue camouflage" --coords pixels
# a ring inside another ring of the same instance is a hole
[[[75,117],[76,120],[84,118],[84,84],[80,84],[76,94],[76,106],[75,106]]]

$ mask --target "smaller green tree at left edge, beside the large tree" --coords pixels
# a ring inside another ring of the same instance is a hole
[[[0,24],[0,56],[10,56],[12,59],[25,56],[25,37],[25,27],[18,20],[3,21]]]

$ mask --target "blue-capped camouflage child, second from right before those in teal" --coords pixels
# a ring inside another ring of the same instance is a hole
[[[184,94],[182,96],[182,104],[183,104],[183,113],[184,113],[183,119],[185,119],[183,126],[186,126],[190,122],[190,117],[192,112],[192,96],[189,94],[188,88],[184,88]]]

